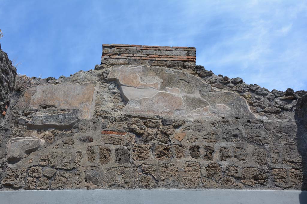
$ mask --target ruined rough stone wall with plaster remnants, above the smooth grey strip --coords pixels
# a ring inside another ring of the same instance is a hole
[[[104,46],[95,70],[14,92],[2,191],[306,189],[305,91],[269,91],[189,61],[113,61],[116,47],[133,46]]]

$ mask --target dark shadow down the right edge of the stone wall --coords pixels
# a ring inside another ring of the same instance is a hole
[[[302,191],[307,191],[307,95],[302,96],[296,105],[295,121],[297,123],[297,150],[302,158]],[[307,193],[301,192],[300,203],[307,203]]]

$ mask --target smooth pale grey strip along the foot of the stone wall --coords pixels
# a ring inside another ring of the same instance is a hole
[[[61,190],[2,191],[1,204],[306,204],[307,191],[263,190]]]

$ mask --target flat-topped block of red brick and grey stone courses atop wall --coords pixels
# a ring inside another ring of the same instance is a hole
[[[102,67],[112,65],[152,65],[177,68],[195,66],[195,47],[103,44]]]

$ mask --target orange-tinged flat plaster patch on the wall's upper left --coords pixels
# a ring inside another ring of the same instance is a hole
[[[80,118],[91,118],[95,104],[96,83],[60,83],[33,86],[27,89],[21,106],[39,108],[40,105],[58,109],[79,109]]]

